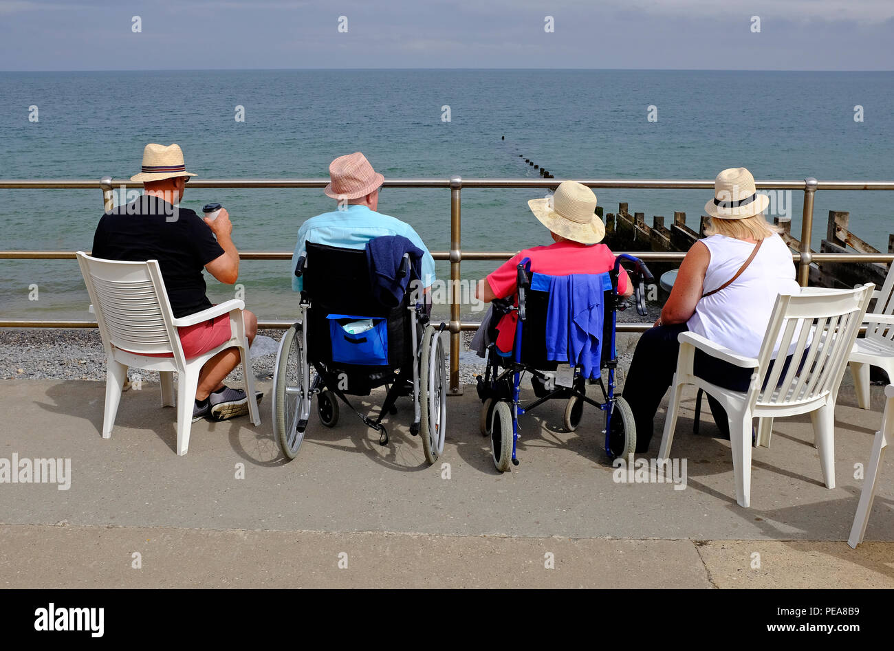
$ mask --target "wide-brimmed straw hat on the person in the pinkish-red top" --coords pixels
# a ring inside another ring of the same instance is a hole
[[[541,224],[566,240],[595,244],[605,236],[605,224],[595,214],[596,195],[576,181],[559,183],[551,198],[531,199],[527,206]]]

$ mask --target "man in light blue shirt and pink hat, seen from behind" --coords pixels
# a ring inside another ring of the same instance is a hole
[[[423,286],[434,283],[434,258],[409,224],[376,212],[379,188],[384,176],[375,172],[360,152],[339,156],[329,165],[330,182],[325,195],[338,199],[339,207],[330,213],[311,217],[298,230],[298,242],[291,257],[291,289],[301,291],[301,278],[295,277],[298,258],[307,253],[307,242],[343,249],[364,249],[367,242],[381,235],[403,235],[419,249],[422,257]]]

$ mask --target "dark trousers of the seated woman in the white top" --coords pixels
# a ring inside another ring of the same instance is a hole
[[[648,452],[655,412],[671,387],[674,371],[677,370],[677,335],[687,330],[685,323],[657,325],[639,338],[623,392],[637,423],[637,452]],[[754,368],[739,368],[702,351],[696,351],[695,373],[713,385],[733,391],[746,391],[751,384]],[[721,433],[729,437],[730,424],[726,410],[710,395],[707,398],[714,422],[721,428]]]

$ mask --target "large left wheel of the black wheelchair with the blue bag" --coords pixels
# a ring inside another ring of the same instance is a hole
[[[301,324],[293,324],[283,335],[274,369],[274,432],[283,454],[298,454],[310,413],[310,377],[304,374]]]

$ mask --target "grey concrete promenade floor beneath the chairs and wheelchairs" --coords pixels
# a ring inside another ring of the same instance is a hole
[[[858,409],[849,375],[836,488],[822,484],[809,418],[779,419],[772,447],[754,451],[749,509],[735,501],[729,442],[710,436],[710,414],[692,434],[694,393],[671,451],[687,460],[675,490],[614,481],[601,417],[587,407],[582,427],[564,432],[561,401],[522,418],[521,464],[500,475],[473,387],[449,399],[435,467],[409,435],[409,401],[386,421],[387,447],[342,408],[334,429],[314,416],[285,462],[271,386],[259,385],[261,427],[199,421],[178,457],[157,385],[122,396],[103,440],[104,383],[0,381],[0,459],[71,460],[68,490],[0,484],[0,587],[894,588],[890,459],[867,542],[845,542],[855,464],[869,460],[882,406],[873,387],[873,410]]]

